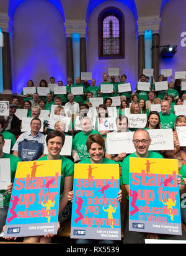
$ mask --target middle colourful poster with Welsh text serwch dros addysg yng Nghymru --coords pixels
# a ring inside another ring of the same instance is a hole
[[[119,165],[75,164],[71,238],[121,239]]]

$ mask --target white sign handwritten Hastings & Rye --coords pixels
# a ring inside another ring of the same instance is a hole
[[[144,128],[146,126],[146,114],[128,114],[127,117],[130,128]]]

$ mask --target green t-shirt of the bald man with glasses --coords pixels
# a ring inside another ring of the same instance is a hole
[[[137,157],[135,153],[131,153],[128,157],[125,157],[122,162],[122,178],[123,184],[129,185],[129,170],[130,170],[130,158]],[[149,151],[149,155],[146,158],[163,158],[159,153]]]

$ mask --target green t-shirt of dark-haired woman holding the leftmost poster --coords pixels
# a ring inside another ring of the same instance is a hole
[[[45,155],[45,157],[39,158],[37,161],[46,161],[48,155]],[[69,158],[64,157],[63,155],[60,155],[60,160],[62,160],[61,165],[61,185],[60,185],[60,195],[63,194],[64,190],[64,178],[66,176],[73,175],[74,173],[74,163],[69,160]]]

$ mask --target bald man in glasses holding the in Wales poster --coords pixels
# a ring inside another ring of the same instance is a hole
[[[133,144],[135,146],[135,153],[128,155],[122,162],[122,178],[126,191],[129,194],[129,173],[130,173],[130,158],[131,157],[143,157],[143,158],[163,158],[162,155],[156,152],[148,151],[149,145],[151,145],[151,139],[147,130],[138,129],[133,135]],[[125,223],[124,223],[124,244],[144,243],[144,239],[150,234],[141,232],[132,232],[128,229],[128,203],[125,209]],[[157,234],[151,234],[151,237],[157,239]]]

